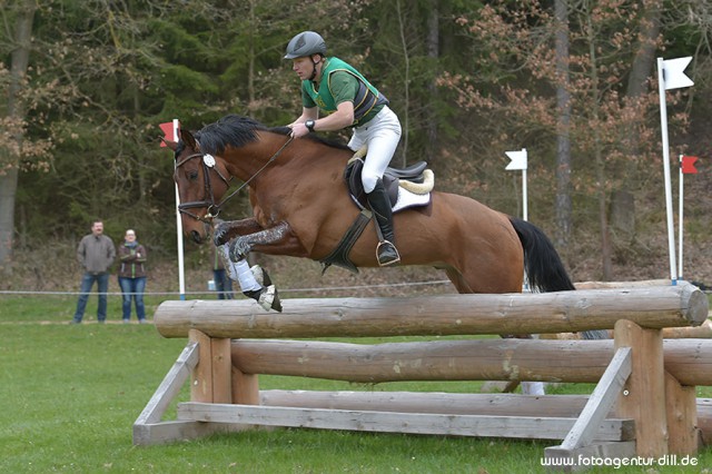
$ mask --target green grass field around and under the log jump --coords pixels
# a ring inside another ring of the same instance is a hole
[[[109,297],[109,322],[120,320]],[[149,297],[148,314],[161,297]],[[185,339],[152,325],[67,324],[76,297],[0,295],[0,472],[2,473],[537,473],[555,443],[273,429],[136,447],[132,424]],[[93,305],[93,306],[92,306]],[[135,323],[135,322],[134,322]],[[474,391],[478,383],[383,384],[376,387],[295,377],[260,377],[263,388]],[[590,393],[563,385],[557,393]],[[710,387],[698,396],[711,397]],[[187,399],[187,389],[181,395]],[[172,414],[169,415],[169,417]],[[611,467],[589,472],[712,473],[712,450],[696,467]]]

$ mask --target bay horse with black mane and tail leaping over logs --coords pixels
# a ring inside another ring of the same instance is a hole
[[[196,243],[209,237],[230,177],[248,186],[254,216],[215,229],[215,244],[230,241],[234,259],[257,250],[323,260],[359,213],[343,177],[353,150],[315,135],[293,139],[288,127],[229,115],[167,145],[184,231]],[[434,190],[429,205],[395,214],[394,228],[400,265],[441,268],[461,294],[521,293],[525,270],[533,290],[575,289],[540,228],[469,197]],[[372,221],[350,260],[378,266],[376,245]]]

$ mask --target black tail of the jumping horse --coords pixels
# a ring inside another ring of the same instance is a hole
[[[522,247],[524,248],[524,270],[530,287],[536,292],[574,290],[564,263],[546,234],[526,220],[510,217]],[[585,330],[584,339],[607,339],[606,330]]]

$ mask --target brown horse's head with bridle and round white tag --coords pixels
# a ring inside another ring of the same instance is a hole
[[[166,145],[176,155],[174,179],[178,186],[184,234],[200,244],[220,211],[220,199],[230,186],[230,175],[222,159],[200,151],[200,145],[188,130],[180,130],[180,141],[166,141]]]

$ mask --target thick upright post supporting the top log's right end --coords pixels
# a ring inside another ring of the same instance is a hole
[[[633,352],[633,371],[619,397],[616,416],[635,419],[639,456],[663,456],[669,434],[662,332],[621,319],[615,324],[615,347]]]

